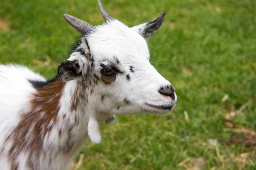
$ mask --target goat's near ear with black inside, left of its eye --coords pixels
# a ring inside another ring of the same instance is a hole
[[[74,59],[72,61],[66,60],[58,65],[58,75],[61,78],[61,82],[67,82],[69,80],[81,78],[86,70],[83,60]]]

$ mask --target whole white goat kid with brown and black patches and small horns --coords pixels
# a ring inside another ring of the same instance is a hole
[[[129,28],[98,5],[102,26],[64,14],[82,36],[54,79],[0,65],[0,170],[65,170],[88,137],[101,141],[101,122],[175,106],[175,90],[150,64],[145,41],[165,13]]]

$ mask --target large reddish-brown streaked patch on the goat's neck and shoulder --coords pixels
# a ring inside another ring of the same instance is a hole
[[[58,77],[54,82],[50,82],[43,88],[38,88],[37,93],[32,94],[30,111],[20,111],[20,122],[6,139],[7,141],[12,138],[13,141],[9,150],[12,170],[17,169],[15,162],[22,151],[29,154],[29,167],[31,169],[38,167],[39,162],[34,160],[39,160],[39,156],[43,152],[44,138],[51,131],[51,124],[57,122],[59,101],[65,84]]]

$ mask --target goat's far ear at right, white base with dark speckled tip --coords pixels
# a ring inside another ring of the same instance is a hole
[[[144,38],[151,37],[161,26],[165,14],[166,14],[166,12],[163,12],[155,20],[134,26],[131,29],[134,30],[135,32],[139,33]]]

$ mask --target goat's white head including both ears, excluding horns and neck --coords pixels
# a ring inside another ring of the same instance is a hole
[[[90,103],[99,112],[168,112],[175,106],[177,96],[171,83],[150,64],[145,41],[160,27],[164,14],[132,28],[113,18],[105,18],[107,24],[90,28],[70,59],[58,67],[61,79],[95,77],[97,83]]]

